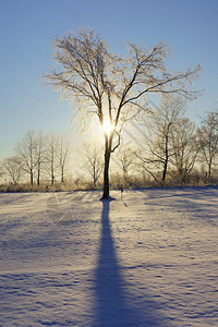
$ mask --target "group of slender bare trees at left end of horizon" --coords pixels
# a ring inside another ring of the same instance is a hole
[[[28,131],[14,148],[14,156],[1,162],[1,177],[13,185],[28,179],[29,184],[51,185],[57,178],[64,183],[70,160],[70,137],[62,134]]]

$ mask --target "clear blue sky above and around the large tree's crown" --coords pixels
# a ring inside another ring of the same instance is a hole
[[[113,52],[125,40],[172,47],[170,70],[203,68],[194,88],[204,95],[187,106],[187,116],[218,108],[217,0],[0,0],[0,159],[13,154],[28,130],[72,131],[71,110],[59,93],[45,86],[52,66],[52,40],[80,26],[93,27]]]

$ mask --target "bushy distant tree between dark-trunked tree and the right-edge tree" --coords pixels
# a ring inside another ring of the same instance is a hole
[[[194,168],[199,147],[196,141],[196,125],[187,118],[178,121],[172,133],[173,165],[182,182]]]

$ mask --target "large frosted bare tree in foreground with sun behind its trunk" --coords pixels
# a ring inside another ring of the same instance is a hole
[[[77,35],[56,37],[53,59],[58,69],[45,75],[48,84],[61,88],[62,95],[74,100],[75,114],[82,119],[96,113],[104,128],[105,169],[104,194],[109,196],[109,164],[111,154],[119,146],[122,120],[134,118],[145,110],[147,95],[179,94],[193,98],[196,93],[185,86],[198,76],[199,66],[186,72],[170,73],[165,60],[169,47],[158,44],[152,50],[129,44],[126,58],[109,52],[105,41],[90,29]],[[114,136],[118,140],[114,143]]]

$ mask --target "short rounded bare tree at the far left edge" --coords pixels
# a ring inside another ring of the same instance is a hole
[[[3,160],[3,167],[12,180],[14,185],[17,185],[23,172],[22,161],[20,157],[10,157]]]

